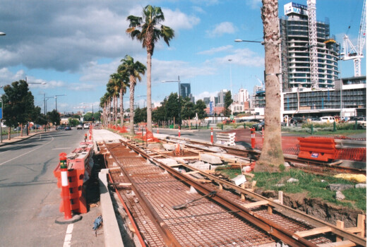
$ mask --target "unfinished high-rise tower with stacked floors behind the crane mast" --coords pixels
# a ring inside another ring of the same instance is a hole
[[[307,6],[289,3],[280,18],[282,91],[292,88],[314,88],[310,70],[309,18]],[[330,37],[330,25],[316,22],[317,34],[317,88],[333,88],[338,80],[340,46]],[[316,55],[315,55],[316,56]]]

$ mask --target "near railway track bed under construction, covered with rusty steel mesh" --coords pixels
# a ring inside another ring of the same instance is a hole
[[[337,238],[345,240],[335,246],[366,246],[358,229],[314,219],[185,162],[168,164],[169,152],[123,140],[97,145],[143,246],[331,246]]]

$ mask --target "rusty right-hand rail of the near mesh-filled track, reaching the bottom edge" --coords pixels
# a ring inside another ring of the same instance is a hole
[[[164,163],[160,162],[159,160],[153,157],[150,157],[150,155],[143,152],[143,150],[138,150],[132,145],[130,145],[129,143],[125,143],[123,140],[120,140],[120,141],[121,143],[130,147],[132,150],[134,150],[138,154],[150,160],[151,162],[160,164],[160,166],[164,168],[167,172],[169,172],[173,176],[176,176],[181,181],[184,181],[188,183],[189,185],[193,186],[201,193],[208,194],[212,192],[210,189],[206,188],[205,186],[202,186],[201,183],[197,183],[196,181],[193,181],[188,176],[181,174],[179,171],[176,171],[175,169],[171,167],[167,167]],[[266,219],[265,217],[262,217],[261,215],[256,215],[253,211],[246,209],[242,205],[238,205],[237,203],[228,201],[227,198],[225,198],[222,195],[216,194],[213,196],[213,198],[211,198],[211,200],[215,200],[217,203],[220,203],[224,207],[227,207],[229,210],[234,211],[240,217],[243,217],[247,221],[251,222],[252,224],[255,224],[257,227],[266,231],[268,234],[275,236],[277,239],[282,240],[284,243],[287,243],[290,246],[317,246],[316,244],[311,243],[310,241],[307,241],[306,239],[302,237],[293,236],[294,232],[288,231],[287,229],[283,229],[278,224],[275,224],[274,222],[270,221],[270,219]]]

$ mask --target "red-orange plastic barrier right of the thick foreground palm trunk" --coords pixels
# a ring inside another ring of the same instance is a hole
[[[335,142],[333,138],[297,138],[299,140],[299,158],[315,159],[328,162],[335,159]]]

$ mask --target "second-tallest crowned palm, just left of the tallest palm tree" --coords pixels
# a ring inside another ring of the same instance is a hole
[[[133,95],[135,93],[136,79],[141,81],[141,74],[145,74],[146,67],[139,61],[133,61],[133,58],[126,55],[121,60],[122,64],[119,65],[118,73],[126,73],[130,79],[130,134],[135,135],[133,130]]]

